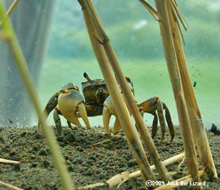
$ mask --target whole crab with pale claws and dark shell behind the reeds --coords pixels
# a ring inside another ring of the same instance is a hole
[[[117,134],[121,128],[121,124],[117,116],[115,107],[112,103],[112,99],[108,92],[105,80],[91,80],[87,73],[84,73],[84,77],[87,79],[86,82],[81,83],[82,92],[84,96],[80,94],[79,88],[76,84],[67,83],[61,88],[59,92],[55,93],[50,98],[49,102],[47,103],[44,109],[44,112],[46,112],[47,115],[49,115],[50,112],[54,110],[53,118],[59,135],[62,134],[62,127],[59,115],[62,115],[67,120],[67,124],[70,128],[72,128],[71,123],[75,124],[80,128],[83,128],[78,119],[81,117],[87,129],[91,129],[88,117],[103,115],[103,126],[105,132],[108,135],[111,135],[109,121],[111,116],[114,115],[116,117],[114,123],[114,134]],[[131,79],[129,77],[126,77],[126,80],[134,95],[134,87]],[[123,94],[122,96],[124,97]],[[154,116],[152,124],[152,137],[154,137],[157,133],[159,118],[162,131],[160,143],[162,143],[165,135],[166,118],[171,135],[170,143],[172,143],[173,138],[175,136],[175,131],[170,111],[166,104],[160,101],[158,97],[153,97],[140,104],[137,104],[137,107],[139,108],[142,117],[144,116],[144,113],[150,113]],[[165,110],[165,118],[163,110]],[[38,127],[40,127],[40,123],[38,123]]]

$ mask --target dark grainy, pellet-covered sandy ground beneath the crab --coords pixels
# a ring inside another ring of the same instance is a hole
[[[63,131],[69,143],[64,141],[62,137],[58,137],[58,142],[76,188],[105,182],[123,171],[134,172],[138,170],[138,165],[132,156],[127,141],[123,137],[124,133],[122,130],[119,133],[121,136],[111,138],[104,133],[101,127],[95,127],[89,131],[76,127],[73,130],[63,128]],[[214,135],[210,131],[207,131],[207,134],[217,173],[220,176],[220,136]],[[172,145],[168,144],[169,138],[167,132],[161,146],[158,145],[160,134],[154,139],[162,160],[183,152],[183,143],[178,127],[176,128],[176,136]],[[107,139],[110,140],[91,146]],[[62,189],[59,177],[50,158],[50,151],[45,144],[44,135],[42,131],[37,132],[36,127],[0,128],[0,157],[21,161],[20,165],[0,163],[1,181],[25,190]],[[150,159],[149,162],[152,164]],[[177,171],[177,166],[178,163],[175,163],[168,166],[167,169],[170,172],[174,172]],[[181,169],[183,171],[187,169],[185,163]],[[176,179],[181,176],[183,175],[174,174],[173,178]],[[204,182],[205,179],[202,178],[202,181]],[[0,185],[0,189],[8,188]],[[105,186],[100,189],[109,188]],[[142,178],[138,177],[129,180],[122,184],[120,189],[144,189]],[[181,189],[186,188],[182,187]],[[205,189],[220,189],[220,179],[215,179],[212,182],[205,181]]]

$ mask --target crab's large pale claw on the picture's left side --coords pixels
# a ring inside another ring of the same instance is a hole
[[[62,90],[58,98],[58,107],[62,115],[71,123],[77,125],[80,128],[83,128],[79,122],[78,117],[81,117],[86,127],[91,129],[83,96],[74,89],[71,90]]]

